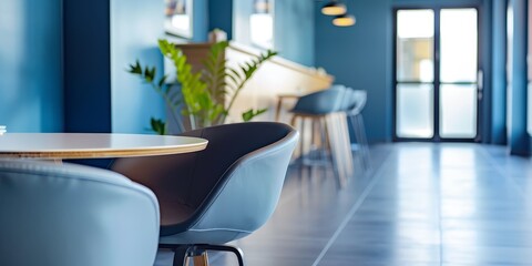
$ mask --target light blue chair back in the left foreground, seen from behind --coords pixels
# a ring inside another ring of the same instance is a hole
[[[153,193],[111,171],[0,160],[0,265],[153,265],[158,218]]]

